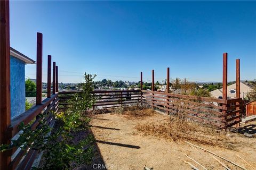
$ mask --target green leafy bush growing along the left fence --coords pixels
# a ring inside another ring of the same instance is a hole
[[[39,114],[36,119],[39,120],[39,125],[36,129],[31,130],[32,123],[25,125],[22,122],[19,125],[19,130],[23,131],[20,137],[13,140],[10,145],[0,146],[0,151],[13,147],[44,151],[43,165],[33,169],[71,169],[81,164],[89,164],[93,157],[93,135],[89,134],[78,143],[74,143],[71,134],[87,131],[89,128],[90,118],[85,117],[83,113],[95,103],[91,95],[93,78],[95,75],[85,73],[83,92],[69,100],[72,107],[66,113],[49,113],[57,117],[57,122],[61,124],[59,128],[50,128],[46,120],[48,115]],[[48,135],[50,131],[52,134]]]

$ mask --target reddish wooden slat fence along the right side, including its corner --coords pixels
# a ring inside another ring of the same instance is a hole
[[[153,108],[218,128],[226,129],[241,122],[241,98],[224,100],[147,90],[142,90],[142,97]]]

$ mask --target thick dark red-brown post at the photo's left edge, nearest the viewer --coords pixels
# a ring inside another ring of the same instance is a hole
[[[10,144],[11,139],[7,128],[11,124],[11,91],[10,91],[10,18],[9,1],[0,1],[0,145]],[[7,169],[11,156],[7,152],[0,152],[0,169]]]

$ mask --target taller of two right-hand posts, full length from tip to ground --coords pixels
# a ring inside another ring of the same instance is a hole
[[[222,99],[225,100],[225,104],[222,105],[225,109],[222,113],[225,115],[227,120],[227,84],[228,84],[228,53],[223,53],[223,76],[222,76]],[[227,122],[225,123],[227,126]]]

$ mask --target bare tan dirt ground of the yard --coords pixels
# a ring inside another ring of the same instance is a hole
[[[145,135],[135,129],[137,125],[167,123],[169,116],[156,113],[143,118],[129,118],[123,114],[108,113],[91,117],[91,130],[107,169],[142,170],[145,165],[154,170],[191,169],[191,166],[185,161],[198,169],[203,169],[185,154],[207,169],[226,169],[212,157],[212,154],[190,146],[182,140],[173,141],[154,135]],[[189,142],[227,158],[246,169],[253,168],[237,155],[256,167],[256,138],[247,138],[243,134],[236,133],[227,134],[227,137],[236,141],[235,149]],[[217,157],[217,159],[230,169],[241,169],[221,158]]]

